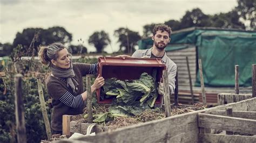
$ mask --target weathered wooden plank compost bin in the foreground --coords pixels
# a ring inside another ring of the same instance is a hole
[[[225,116],[227,108],[233,109],[233,117]],[[87,125],[72,121],[72,118],[76,117],[78,116],[68,118],[70,132],[84,133]],[[210,128],[253,134],[253,136],[213,134],[205,130]],[[256,97],[101,132],[93,137],[60,140],[60,142],[255,142],[255,134]]]

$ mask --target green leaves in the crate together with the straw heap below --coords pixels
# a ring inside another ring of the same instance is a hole
[[[143,73],[139,79],[131,81],[105,79],[100,100],[112,98],[112,103],[110,106],[97,105],[93,108],[93,122],[117,128],[165,118],[162,109],[154,108],[158,97],[156,72],[152,76]],[[84,116],[86,118],[87,115]]]

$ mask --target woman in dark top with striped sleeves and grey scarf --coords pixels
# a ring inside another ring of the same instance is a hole
[[[87,93],[83,91],[82,77],[96,74],[97,64],[72,63],[70,53],[60,43],[42,46],[38,56],[51,69],[51,75],[46,79],[46,87],[53,105],[52,134],[62,134],[62,116],[83,113]],[[91,92],[103,85],[104,78],[98,76],[91,85]]]

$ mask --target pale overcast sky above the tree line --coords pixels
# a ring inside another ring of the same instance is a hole
[[[143,34],[143,26],[179,20],[187,10],[200,8],[205,14],[228,12],[237,6],[236,0],[0,0],[0,42],[13,42],[17,32],[28,27],[49,28],[62,26],[73,36],[72,44],[104,30],[112,40],[105,51],[117,51],[113,31],[119,27]]]

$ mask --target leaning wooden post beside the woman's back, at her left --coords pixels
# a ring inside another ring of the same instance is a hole
[[[48,140],[50,140],[51,135],[52,135],[51,134],[51,126],[50,126],[50,121],[49,121],[46,106],[45,106],[44,92],[43,92],[43,87],[42,87],[42,82],[41,82],[40,77],[37,77],[37,87],[38,87],[39,100],[40,100],[40,104],[41,104],[41,110],[42,110],[43,118],[44,118],[46,134],[47,134]]]

